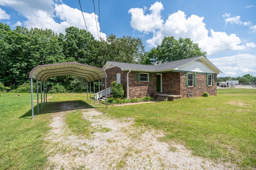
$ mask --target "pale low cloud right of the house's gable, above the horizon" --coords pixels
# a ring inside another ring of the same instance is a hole
[[[256,55],[238,54],[209,60],[222,71],[220,77],[256,76]]]

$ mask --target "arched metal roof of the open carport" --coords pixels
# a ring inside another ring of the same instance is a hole
[[[65,75],[82,77],[87,82],[107,78],[102,68],[76,62],[38,65],[30,71],[29,78],[46,82],[50,77]]]

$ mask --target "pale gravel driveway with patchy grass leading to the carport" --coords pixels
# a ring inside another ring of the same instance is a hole
[[[61,107],[72,110],[74,106],[63,103]],[[163,136],[160,131],[133,127],[132,118],[111,119],[96,109],[82,109],[84,119],[91,121],[95,128],[106,127],[110,131],[93,133],[89,139],[76,136],[65,124],[67,112],[54,115],[52,129],[45,139],[51,155],[48,157],[49,170],[236,169],[232,164],[193,156],[182,145],[160,142],[158,138]]]

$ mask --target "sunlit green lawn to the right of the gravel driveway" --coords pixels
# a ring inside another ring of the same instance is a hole
[[[101,109],[112,117],[134,117],[136,126],[163,130],[162,141],[192,153],[256,168],[256,90],[218,89],[218,96]]]

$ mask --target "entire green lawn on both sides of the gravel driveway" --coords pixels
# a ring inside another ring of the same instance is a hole
[[[244,169],[256,168],[256,89],[225,88],[218,89],[217,96],[108,109],[87,101],[87,94],[48,96],[53,97],[38,115],[34,103],[31,119],[30,94],[1,94],[0,169],[46,167],[48,145],[43,138],[49,133],[51,114],[60,111],[58,104],[62,102],[76,103],[79,108],[96,107],[111,117],[134,117],[136,127],[161,129],[165,137],[160,140],[181,143],[195,155],[229,161]],[[74,116],[68,119],[70,126],[80,126]]]

